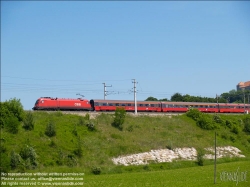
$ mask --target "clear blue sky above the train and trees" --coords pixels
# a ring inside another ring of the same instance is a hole
[[[247,1],[2,1],[1,101],[215,97],[250,81]]]

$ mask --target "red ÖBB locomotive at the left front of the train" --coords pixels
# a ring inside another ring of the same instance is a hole
[[[92,110],[88,100],[41,97],[33,110]]]

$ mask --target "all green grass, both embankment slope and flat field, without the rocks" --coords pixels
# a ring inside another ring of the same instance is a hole
[[[25,167],[10,172],[59,172],[84,173],[84,186],[213,186],[213,161],[205,160],[204,166],[196,161],[151,163],[146,166],[116,166],[113,157],[141,153],[153,149],[214,146],[215,130],[203,130],[185,114],[179,116],[133,116],[127,115],[123,130],[111,126],[113,114],[101,114],[91,122],[95,130],[84,124],[84,118],[61,112],[35,112],[35,128],[27,131],[21,126],[17,134],[4,129],[1,138],[7,158],[11,152],[20,153],[29,145],[37,154],[35,169]],[[213,114],[211,114],[213,115]],[[221,181],[220,172],[248,171],[250,168],[250,135],[243,131],[243,115],[221,115],[237,125],[238,133],[226,126],[216,129],[217,146],[235,146],[246,158],[223,158],[218,160],[217,186],[235,186],[235,181]],[[45,135],[46,125],[53,122],[56,135]],[[80,151],[79,151],[80,149]],[[101,174],[94,175],[93,168]],[[250,181],[249,176],[247,180]],[[237,186],[249,186],[238,182]]]

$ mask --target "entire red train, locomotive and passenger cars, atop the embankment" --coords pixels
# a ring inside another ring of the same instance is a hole
[[[123,107],[128,112],[135,111],[134,101],[94,99],[89,101],[81,98],[62,99],[51,97],[39,98],[33,110],[115,111],[116,107]],[[210,113],[250,112],[250,104],[137,101],[138,112],[187,112],[190,108]]]

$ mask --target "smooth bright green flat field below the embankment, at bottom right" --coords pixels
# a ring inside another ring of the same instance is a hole
[[[237,173],[238,170],[238,173]],[[131,187],[163,187],[163,186],[250,186],[250,162],[231,162],[217,165],[216,184],[214,184],[214,166],[180,168],[173,170],[151,171],[140,173],[109,174],[86,176],[86,187],[91,186],[131,186]],[[236,181],[223,179],[223,172],[238,174]],[[246,177],[243,176],[243,173]],[[239,176],[242,175],[240,178]],[[222,178],[222,179],[221,179]],[[238,181],[237,181],[238,179]],[[244,180],[243,180],[244,179]]]

